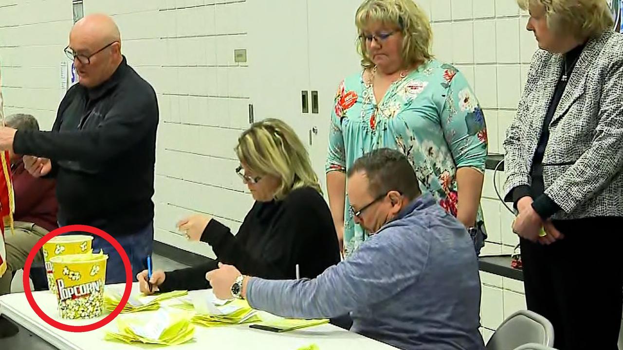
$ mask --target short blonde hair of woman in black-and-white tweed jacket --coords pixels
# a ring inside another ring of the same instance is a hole
[[[545,7],[547,25],[554,32],[571,32],[576,39],[596,37],[614,26],[606,0],[517,0],[523,10]]]

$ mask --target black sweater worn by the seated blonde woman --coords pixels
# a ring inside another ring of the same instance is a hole
[[[196,267],[166,272],[161,291],[210,288],[206,272],[218,268],[218,262],[234,265],[245,275],[262,278],[294,278],[296,264],[303,256],[302,277],[315,277],[340,261],[337,235],[325,200],[314,189],[295,190],[284,200],[264,232],[257,227],[257,207],[251,209],[237,235],[216,219],[210,220],[201,241],[212,246],[217,260],[210,259]],[[247,248],[250,235],[270,237],[263,247]],[[313,247],[306,245],[313,244]],[[257,250],[256,250],[257,248]],[[261,249],[261,250],[260,250]],[[313,254],[307,252],[313,250]],[[313,257],[313,258],[310,258]]]

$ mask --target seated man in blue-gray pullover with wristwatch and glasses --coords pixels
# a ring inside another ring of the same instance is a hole
[[[472,240],[421,194],[407,158],[388,148],[364,155],[347,191],[355,222],[374,234],[345,261],[313,280],[264,280],[221,265],[206,275],[215,295],[291,318],[350,312],[351,331],[401,349],[484,349]]]

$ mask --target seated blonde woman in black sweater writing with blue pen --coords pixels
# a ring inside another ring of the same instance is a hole
[[[212,246],[216,260],[172,272],[153,272],[153,291],[209,288],[205,274],[224,262],[254,276],[313,278],[340,262],[331,212],[320,194],[318,177],[305,146],[281,120],[254,123],[238,139],[236,173],[255,204],[237,235],[216,219],[193,215],[178,223],[191,240]],[[244,173],[243,173],[244,172]],[[217,200],[217,199],[215,199]],[[138,274],[140,289],[150,294],[147,272]]]

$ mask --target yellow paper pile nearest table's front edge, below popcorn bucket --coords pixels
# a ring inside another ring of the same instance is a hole
[[[123,343],[178,345],[193,339],[194,325],[187,313],[164,309],[156,313],[125,316],[117,319],[117,327],[106,332],[106,340]]]

